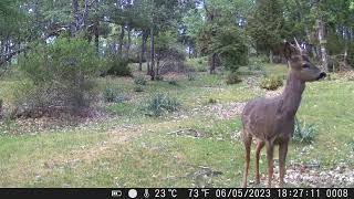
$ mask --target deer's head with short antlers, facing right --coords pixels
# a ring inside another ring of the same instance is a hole
[[[295,42],[296,46],[289,42],[285,42],[284,46],[284,55],[288,60],[289,70],[302,82],[324,78],[326,74],[310,62],[308,54],[302,50],[296,40]]]

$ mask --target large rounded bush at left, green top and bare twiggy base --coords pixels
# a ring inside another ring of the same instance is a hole
[[[32,44],[18,61],[23,85],[15,92],[14,104],[18,112],[28,113],[51,107],[75,113],[87,107],[95,96],[91,78],[103,70],[94,48],[80,38]]]

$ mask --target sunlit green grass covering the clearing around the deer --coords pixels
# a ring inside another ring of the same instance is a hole
[[[284,74],[284,65],[266,65],[267,73]],[[209,98],[214,105],[246,102],[264,95],[246,83],[226,85],[225,75],[198,73],[195,81],[178,77],[178,86],[148,82],[134,92],[133,78],[98,78],[98,91],[110,86],[129,98],[104,103],[112,116],[58,129],[0,134],[0,187],[238,187],[241,182],[243,145],[232,138],[240,130],[239,116],[227,119],[195,112]],[[10,96],[13,82],[1,82],[2,98]],[[139,111],[155,93],[167,93],[181,102],[180,115],[152,118]],[[292,143],[290,161],[317,159],[321,169],[340,163],[354,168],[354,83],[322,81],[308,84],[298,117],[317,127],[313,148]],[[210,105],[210,104],[209,104]],[[17,127],[17,125],[14,125]],[[23,127],[23,126],[22,126]],[[3,128],[1,128],[3,129]],[[201,137],[171,134],[194,129]],[[19,130],[19,129],[18,129]],[[277,155],[275,155],[277,157]],[[198,176],[202,168],[212,170]],[[264,151],[261,172],[266,172]],[[250,177],[252,178],[253,164]]]

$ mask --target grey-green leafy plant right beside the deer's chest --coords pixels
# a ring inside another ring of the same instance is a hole
[[[305,122],[301,122],[295,117],[295,128],[292,139],[295,143],[311,144],[314,140],[316,134],[316,127],[314,124],[306,125]]]

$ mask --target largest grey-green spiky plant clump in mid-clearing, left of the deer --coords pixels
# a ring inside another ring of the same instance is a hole
[[[175,112],[180,103],[176,98],[170,98],[166,94],[155,94],[146,106],[147,115],[158,117],[166,112]]]

